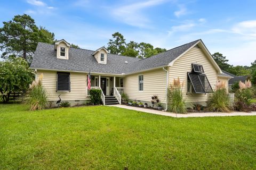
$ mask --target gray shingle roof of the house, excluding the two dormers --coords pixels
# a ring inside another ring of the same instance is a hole
[[[121,55],[108,54],[107,64],[99,64],[93,54],[93,50],[69,49],[69,59],[58,59],[54,45],[38,43],[33,61],[30,65],[33,69],[67,70],[94,73],[122,74],[132,73],[154,67],[164,66],[175,58],[186,52],[197,41],[175,47],[166,52],[154,55],[149,58],[139,59]],[[128,63],[125,63],[127,61]]]

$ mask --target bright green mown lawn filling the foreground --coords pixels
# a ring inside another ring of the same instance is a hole
[[[0,104],[0,169],[256,169],[256,117]]]

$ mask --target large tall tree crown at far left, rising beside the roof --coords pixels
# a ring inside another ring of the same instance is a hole
[[[30,63],[39,41],[53,43],[54,34],[43,27],[38,29],[34,19],[27,14],[15,15],[11,21],[3,24],[3,28],[0,28],[2,58],[14,54]]]

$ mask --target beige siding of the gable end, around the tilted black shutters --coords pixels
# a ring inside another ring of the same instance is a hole
[[[177,61],[169,67],[169,84],[173,79],[180,78],[181,82],[184,82],[183,94],[187,103],[189,102],[202,102],[207,101],[208,95],[206,94],[189,94],[187,92],[187,72],[191,72],[191,64],[203,65],[204,72],[212,86],[215,89],[217,83],[217,70],[214,68],[209,58],[204,54],[201,48],[193,47],[186,54],[181,56]]]

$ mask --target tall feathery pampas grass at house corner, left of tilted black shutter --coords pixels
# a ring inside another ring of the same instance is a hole
[[[167,100],[168,100],[168,111],[174,113],[186,113],[185,100],[182,94],[183,83],[180,79],[174,79],[171,87],[168,89]]]

